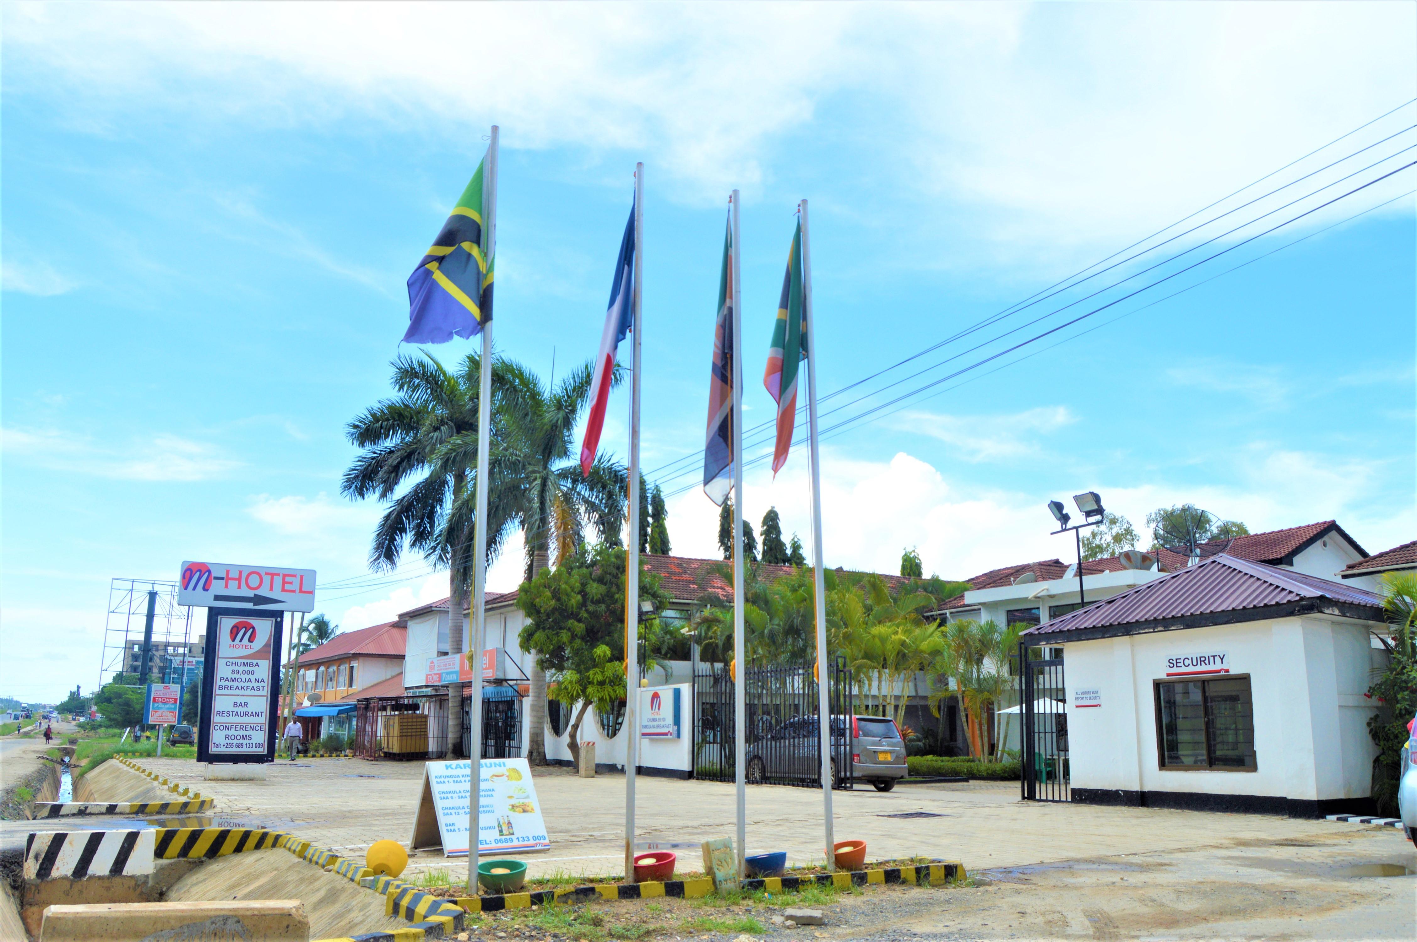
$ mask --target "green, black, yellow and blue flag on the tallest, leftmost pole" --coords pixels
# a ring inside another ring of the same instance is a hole
[[[408,276],[407,343],[472,337],[492,320],[492,265],[486,259],[483,157],[432,248]]]

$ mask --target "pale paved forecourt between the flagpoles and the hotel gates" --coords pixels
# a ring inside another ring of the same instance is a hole
[[[264,782],[207,782],[190,759],[146,759],[147,768],[217,800],[215,813],[241,824],[289,829],[337,853],[359,853],[380,839],[407,841],[422,764],[309,759],[266,766]],[[623,860],[625,779],[581,779],[567,769],[537,769],[537,793],[551,850],[526,854],[530,874],[604,875]],[[640,776],[638,840],[697,847],[734,832],[734,788]],[[947,857],[971,871],[1108,854],[1244,847],[1294,841],[1360,824],[1263,815],[1097,807],[1020,802],[1016,783],[901,785],[894,792],[835,793],[837,840],[866,839],[867,857]],[[794,864],[820,863],[822,795],[812,789],[748,789],[748,850],[786,850]],[[913,817],[898,817],[913,815]],[[924,816],[918,816],[924,815]],[[1399,834],[1400,836],[1400,834]],[[680,850],[696,867],[697,850]],[[461,863],[424,851],[414,870]]]

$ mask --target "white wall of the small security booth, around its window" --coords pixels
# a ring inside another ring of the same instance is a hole
[[[1299,800],[1366,798],[1374,747],[1363,697],[1369,622],[1301,616],[1131,635],[1066,645],[1073,788],[1255,795]],[[1227,652],[1248,674],[1254,772],[1161,769],[1152,681],[1166,657]],[[1100,688],[1102,705],[1076,708],[1074,691]]]

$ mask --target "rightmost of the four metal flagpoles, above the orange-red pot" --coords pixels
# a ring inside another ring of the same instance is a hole
[[[808,238],[806,200],[798,204],[802,211],[802,306],[806,313],[806,421],[808,450],[812,456],[812,565],[815,594],[812,608],[816,612],[816,711],[822,737],[822,817],[826,822],[826,868],[836,870],[835,841],[832,840],[832,698],[829,693],[830,674],[826,659],[826,569],[822,565],[822,456],[816,446],[816,319],[812,310],[812,242]],[[846,717],[842,718],[847,724]]]

